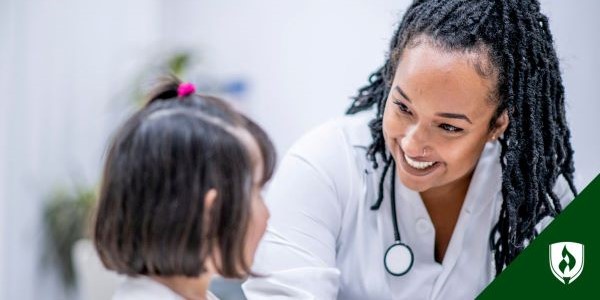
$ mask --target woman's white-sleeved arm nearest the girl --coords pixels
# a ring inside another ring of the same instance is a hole
[[[338,175],[347,176],[348,166],[333,129],[312,132],[283,159],[268,191],[271,219],[253,268],[266,276],[244,283],[248,299],[337,297],[336,239],[347,190]]]

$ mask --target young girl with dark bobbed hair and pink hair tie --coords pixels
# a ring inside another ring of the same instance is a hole
[[[117,131],[94,228],[114,299],[216,299],[211,277],[249,272],[269,213],[272,143],[225,102],[163,82]]]

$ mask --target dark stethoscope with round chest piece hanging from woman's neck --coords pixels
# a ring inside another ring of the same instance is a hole
[[[394,243],[385,251],[383,265],[385,266],[386,271],[391,275],[402,276],[410,271],[415,258],[410,246],[402,242],[400,229],[398,229],[398,216],[396,215],[396,163],[391,156],[386,162],[381,176],[382,178],[385,178],[390,167],[392,168],[390,201],[392,206],[392,221],[394,222]],[[377,199],[377,202],[371,206],[372,210],[379,209],[381,202],[383,201],[383,182],[384,180],[382,179],[379,183],[379,198]]]

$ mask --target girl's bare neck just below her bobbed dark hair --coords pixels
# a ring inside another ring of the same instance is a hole
[[[207,299],[208,285],[212,273],[207,272],[198,277],[185,276],[153,276],[152,279],[162,283],[173,292],[188,300]]]

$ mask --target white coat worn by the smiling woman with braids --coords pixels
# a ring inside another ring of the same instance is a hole
[[[442,264],[434,259],[435,231],[420,195],[397,179],[399,229],[415,260],[395,277],[383,265],[394,243],[389,181],[379,210],[370,209],[383,169],[373,169],[365,155],[371,118],[364,112],[322,125],[284,157],[266,197],[271,219],[253,267],[267,276],[244,283],[248,299],[472,299],[493,279],[499,143],[485,146]],[[563,206],[573,198],[562,177],[555,191]]]

